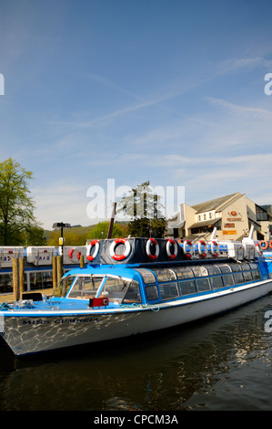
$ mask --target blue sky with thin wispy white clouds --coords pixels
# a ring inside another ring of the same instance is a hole
[[[173,213],[236,192],[272,204],[268,0],[0,0],[0,11],[0,161],[33,172],[45,229],[108,219],[146,181],[171,190]]]

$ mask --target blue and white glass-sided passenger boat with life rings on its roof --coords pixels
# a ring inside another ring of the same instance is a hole
[[[263,297],[272,278],[258,243],[155,238],[93,240],[85,267],[52,297],[0,306],[0,335],[16,356],[171,329]]]

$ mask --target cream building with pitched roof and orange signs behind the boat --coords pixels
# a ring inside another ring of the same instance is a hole
[[[251,225],[255,226],[255,239],[270,239],[272,217],[246,194],[236,193],[192,206],[180,204],[178,213],[168,220],[167,233],[191,241],[208,240],[217,227],[217,240],[241,240]]]

